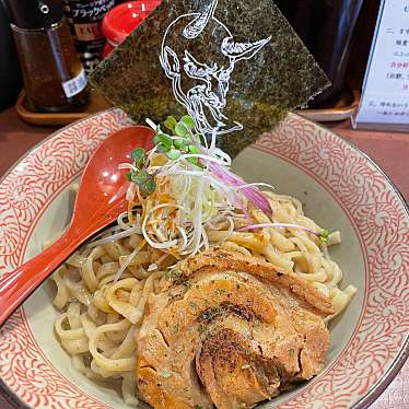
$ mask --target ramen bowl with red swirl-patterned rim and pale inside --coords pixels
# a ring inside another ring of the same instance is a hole
[[[90,155],[112,132],[132,125],[119,109],[51,135],[0,182],[0,271],[40,252],[67,227]],[[347,408],[372,402],[402,365],[408,343],[409,214],[382,171],[334,132],[290,114],[234,161],[247,182],[299,198],[319,225],[340,231],[331,250],[341,288],[358,292],[330,324],[323,372],[260,408]],[[45,282],[1,329],[2,393],[16,406],[127,408],[117,385],[75,372],[54,332],[58,312]]]

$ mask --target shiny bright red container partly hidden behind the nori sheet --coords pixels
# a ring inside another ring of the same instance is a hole
[[[132,33],[148,15],[161,4],[161,0],[127,1],[105,14],[102,32],[107,39],[104,58]]]

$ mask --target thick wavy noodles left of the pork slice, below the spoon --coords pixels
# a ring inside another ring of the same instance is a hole
[[[93,379],[120,381],[129,405],[138,402],[133,370],[144,304],[159,291],[166,268],[147,271],[162,254],[140,248],[141,242],[135,234],[94,248],[85,246],[52,276],[57,287],[54,305],[61,311],[55,330],[73,366]],[[114,282],[132,252],[138,254]]]

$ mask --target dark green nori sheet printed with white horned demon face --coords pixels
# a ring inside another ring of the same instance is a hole
[[[201,12],[208,4],[200,0],[163,0],[100,63],[90,77],[91,84],[139,124],[144,124],[145,118],[160,122],[167,115],[185,115],[160,65],[162,40],[171,22],[183,14]],[[230,78],[223,114],[231,121],[239,121],[244,129],[219,136],[218,144],[235,156],[262,132],[273,129],[289,110],[305,106],[330,83],[271,0],[219,0],[214,17],[229,27],[236,42],[272,37],[252,59],[236,62]],[[175,49],[182,42],[171,38]],[[203,34],[192,46],[195,58],[202,63],[220,55],[220,45],[209,42]]]

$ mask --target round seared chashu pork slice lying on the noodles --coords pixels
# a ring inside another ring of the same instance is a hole
[[[188,257],[151,295],[137,382],[154,408],[252,408],[322,369],[331,303],[268,262],[213,250]]]

